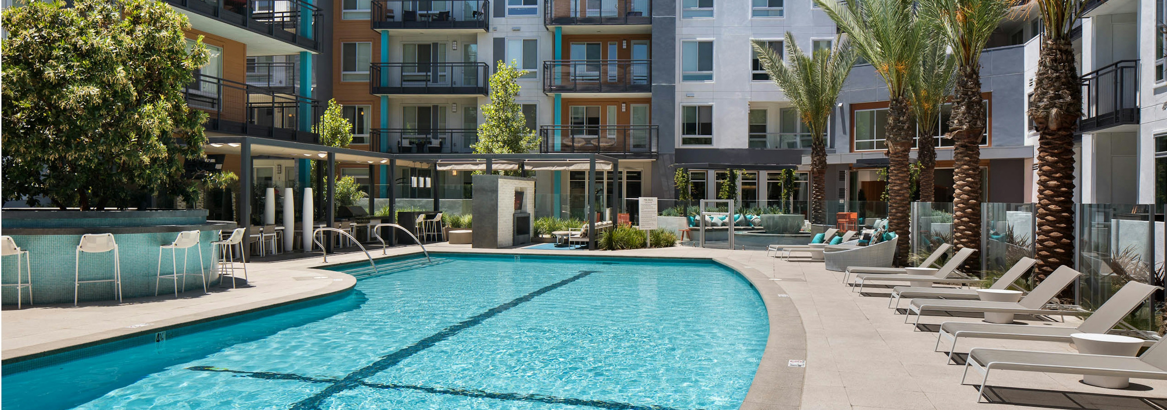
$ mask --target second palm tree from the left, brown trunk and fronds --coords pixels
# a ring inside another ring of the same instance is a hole
[[[888,225],[900,235],[896,263],[907,262],[911,246],[911,186],[908,154],[915,136],[908,102],[916,54],[927,41],[914,0],[864,0],[840,5],[815,0],[887,84]]]

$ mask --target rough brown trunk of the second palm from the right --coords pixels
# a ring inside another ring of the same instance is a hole
[[[980,68],[960,66],[952,96],[952,245],[980,249],[980,137],[985,106],[980,98]],[[980,270],[980,257],[964,263],[965,273]]]

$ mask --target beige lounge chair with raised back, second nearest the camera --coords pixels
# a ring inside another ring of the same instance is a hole
[[[1159,287],[1126,282],[1123,289],[1114,292],[1106,303],[1098,306],[1077,327],[1068,326],[1034,326],[1012,325],[984,321],[945,321],[941,324],[941,331],[936,334],[936,347],[934,352],[939,352],[941,340],[950,340],[949,361],[956,352],[956,342],[959,338],[985,338],[985,339],[1011,339],[1011,340],[1040,340],[1040,341],[1070,341],[1074,333],[1110,333],[1126,314],[1134,311],[1146,301]]]

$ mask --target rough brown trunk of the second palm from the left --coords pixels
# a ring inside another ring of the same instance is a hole
[[[908,154],[911,151],[911,115],[908,112],[908,99],[895,98],[887,109],[887,150],[890,167],[887,171],[888,204],[887,218],[889,228],[899,240],[895,245],[895,263],[906,266],[908,253],[911,252],[911,181],[908,165]]]

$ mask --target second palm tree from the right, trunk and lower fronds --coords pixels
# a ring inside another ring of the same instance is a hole
[[[952,151],[952,242],[980,248],[980,139],[985,133],[985,102],[980,97],[980,51],[1009,10],[1009,0],[923,0],[921,14],[956,56],[949,137]],[[980,270],[970,257],[967,271]]]

